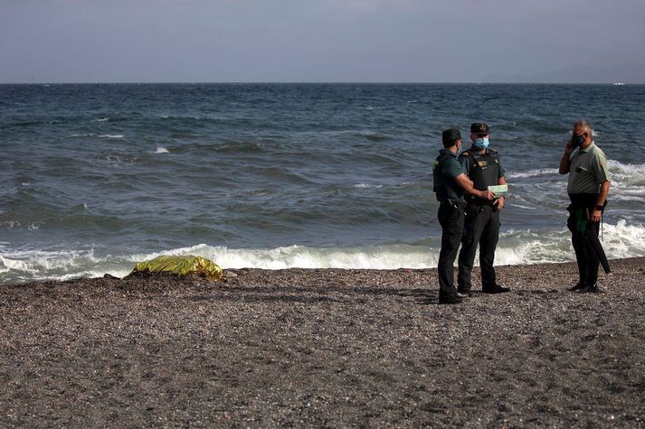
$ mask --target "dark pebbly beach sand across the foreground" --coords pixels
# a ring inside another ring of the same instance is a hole
[[[0,285],[0,426],[645,427],[645,258],[612,269],[459,305],[434,269]]]

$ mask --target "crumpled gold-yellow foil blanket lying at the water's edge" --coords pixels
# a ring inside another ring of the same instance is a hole
[[[157,256],[149,261],[139,262],[132,273],[172,273],[176,275],[199,275],[208,280],[222,278],[222,268],[202,256]]]

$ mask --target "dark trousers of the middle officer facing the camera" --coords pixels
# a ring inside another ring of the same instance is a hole
[[[499,211],[489,204],[469,203],[466,206],[466,223],[461,239],[458,282],[460,290],[470,291],[470,273],[475,263],[479,245],[481,286],[486,289],[496,284],[495,249],[499,239]]]

